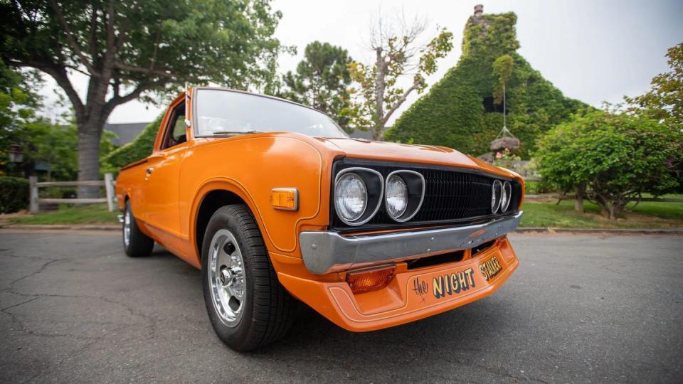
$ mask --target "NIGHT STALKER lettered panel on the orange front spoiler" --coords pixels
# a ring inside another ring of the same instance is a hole
[[[429,304],[481,289],[503,271],[499,257],[493,255],[487,260],[472,262],[467,266],[415,276],[408,283],[408,288],[415,294],[413,300]]]

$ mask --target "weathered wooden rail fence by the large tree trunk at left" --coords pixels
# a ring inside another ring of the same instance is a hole
[[[114,176],[110,173],[105,174],[104,180],[92,181],[41,181],[38,182],[36,176],[28,178],[28,186],[31,188],[30,200],[28,203],[28,210],[31,213],[38,212],[41,203],[70,203],[70,204],[92,204],[92,203],[107,203],[110,211],[116,209],[116,193],[114,186],[116,181]],[[51,186],[104,186],[107,197],[105,198],[40,198],[38,195],[38,188],[45,188]]]

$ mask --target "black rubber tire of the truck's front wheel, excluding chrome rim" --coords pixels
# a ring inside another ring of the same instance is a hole
[[[209,255],[218,230],[228,230],[242,255],[245,299],[240,319],[227,326],[211,296]],[[282,287],[253,215],[244,205],[223,206],[208,222],[201,247],[201,281],[208,318],[218,338],[235,351],[252,351],[284,336],[295,317],[296,300]]]

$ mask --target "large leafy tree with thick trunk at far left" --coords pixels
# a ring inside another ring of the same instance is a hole
[[[73,105],[79,180],[98,177],[102,129],[117,105],[184,82],[265,87],[280,50],[272,34],[281,14],[268,0],[0,0],[0,15],[4,63],[50,75]],[[84,100],[74,72],[88,78]]]

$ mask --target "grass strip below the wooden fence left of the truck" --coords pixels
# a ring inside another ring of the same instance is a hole
[[[11,224],[100,224],[118,223],[116,216],[120,212],[110,212],[107,204],[92,204],[89,206],[68,206],[62,204],[58,210],[39,212],[36,215],[11,218]]]

